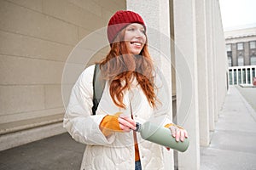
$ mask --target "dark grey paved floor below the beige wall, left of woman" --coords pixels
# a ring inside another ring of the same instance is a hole
[[[84,144],[68,133],[0,152],[0,170],[79,170]]]

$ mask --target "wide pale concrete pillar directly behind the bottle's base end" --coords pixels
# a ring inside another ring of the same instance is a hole
[[[177,123],[183,123],[189,132],[189,149],[178,153],[178,169],[199,169],[199,120],[198,120],[198,87],[197,87],[197,52],[195,27],[195,0],[174,0],[174,39],[176,44],[176,70],[177,78]],[[183,79],[185,76],[185,80]],[[178,83],[178,82],[177,82]],[[183,99],[183,94],[189,101]],[[182,98],[182,99],[181,99]],[[182,106],[188,106],[184,110]]]

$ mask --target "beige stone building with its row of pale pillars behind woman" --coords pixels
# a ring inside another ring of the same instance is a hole
[[[0,150],[66,132],[63,87],[108,52],[107,37],[80,48],[71,61],[77,74],[63,82],[68,56],[115,11],[129,9],[143,16],[150,54],[170,82],[170,116],[189,132],[185,153],[165,151],[166,169],[200,169],[200,146],[210,143],[227,92],[218,0],[2,0],[0,9]]]

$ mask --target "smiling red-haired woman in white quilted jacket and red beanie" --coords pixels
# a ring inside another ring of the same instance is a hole
[[[142,17],[117,11],[108,22],[108,41],[110,52],[100,62],[107,83],[96,115],[91,111],[95,69],[91,65],[75,83],[64,117],[73,139],[87,144],[81,169],[163,169],[162,146],[144,141],[133,131],[136,122],[156,118],[161,104]],[[134,99],[139,106],[133,108]],[[186,130],[171,122],[166,127],[177,141],[188,137]]]

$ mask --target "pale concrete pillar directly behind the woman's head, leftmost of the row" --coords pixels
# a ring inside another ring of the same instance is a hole
[[[172,73],[169,0],[126,0],[128,10],[143,17],[147,26],[149,53],[169,83],[170,118],[172,119]],[[164,150],[165,169],[173,169],[173,151]]]

